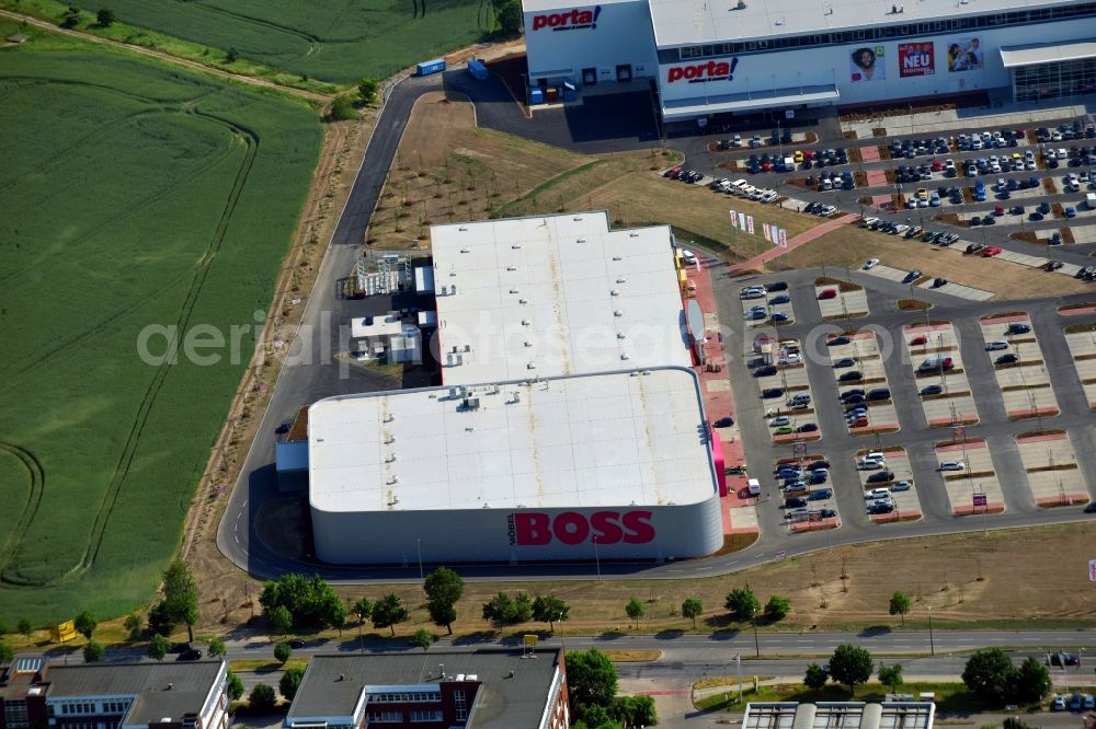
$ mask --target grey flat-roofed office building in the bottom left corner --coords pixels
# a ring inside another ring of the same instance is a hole
[[[0,673],[0,729],[225,729],[224,661],[57,666],[21,658]]]

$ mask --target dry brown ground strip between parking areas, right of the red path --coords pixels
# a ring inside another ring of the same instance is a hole
[[[1088,290],[1084,281],[1070,276],[1049,274],[1000,258],[957,255],[955,251],[865,230],[855,224],[844,225],[806,243],[773,259],[767,266],[769,270],[811,266],[859,268],[868,258],[879,258],[894,268],[921,269],[931,276],[943,276],[954,284],[1007,292],[1007,298],[1014,299]]]

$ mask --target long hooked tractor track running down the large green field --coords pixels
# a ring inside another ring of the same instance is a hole
[[[213,239],[210,240],[205,254],[198,261],[197,270],[195,271],[194,279],[191,282],[191,289],[186,294],[182,311],[180,311],[179,319],[175,322],[175,326],[178,326],[176,331],[179,332],[185,332],[187,325],[190,324],[191,313],[194,310],[198,294],[205,284],[206,276],[209,273],[209,267],[216,259],[217,254],[220,252],[221,244],[225,241],[225,235],[228,232],[229,223],[232,220],[232,215],[236,211],[236,206],[240,200],[240,196],[243,194],[244,187],[247,186],[248,176],[251,174],[255,157],[259,154],[260,143],[259,136],[250,129],[213,115],[202,113],[198,114],[224,124],[232,129],[233,132],[240,135],[248,146],[248,153],[243,163],[240,165],[239,172],[237,173],[232,190],[229,193],[228,199],[225,201],[225,208],[221,211]],[[85,571],[94,564],[95,557],[99,555],[99,549],[103,543],[103,536],[106,534],[106,524],[110,522],[111,514],[114,511],[114,505],[117,504],[122,486],[129,474],[129,468],[133,465],[134,458],[136,456],[137,447],[140,442],[140,436],[145,428],[145,424],[148,421],[149,414],[152,410],[152,405],[156,402],[160,387],[163,385],[163,381],[167,379],[171,368],[172,364],[170,362],[161,363],[157,368],[152,382],[145,392],[145,397],[137,410],[137,417],[134,419],[129,437],[126,439],[125,448],[118,459],[118,465],[115,467],[114,476],[111,478],[110,486],[107,487],[103,501],[100,505],[99,512],[95,514],[88,549],[85,551],[77,570],[70,572],[70,575]]]

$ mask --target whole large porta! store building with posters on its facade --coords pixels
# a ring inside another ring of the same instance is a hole
[[[1012,88],[1096,93],[1096,2],[524,0],[529,84],[653,79],[665,121]],[[1017,54],[1014,47],[1041,53]],[[1068,45],[1068,57],[1054,53]],[[1091,45],[1091,44],[1088,44]],[[652,61],[652,58],[654,59]],[[1016,63],[1023,63],[1017,66]],[[1026,71],[1024,69],[1027,69]]]

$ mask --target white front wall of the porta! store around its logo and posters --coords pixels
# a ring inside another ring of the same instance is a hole
[[[682,69],[704,65],[709,59],[693,62],[681,61],[660,67],[659,88],[665,101],[696,99],[708,95],[739,94],[769,89],[798,89],[800,85],[836,84],[841,94],[838,104],[875,102],[891,99],[912,99],[936,94],[954,94],[980,89],[993,89],[1012,84],[1008,71],[1001,63],[1001,46],[1026,45],[1032,43],[1054,43],[1071,39],[1087,39],[1092,27],[1083,22],[1043,23],[1001,30],[979,28],[963,33],[887,39],[864,40],[845,46],[806,48],[801,50],[773,51],[738,56],[732,79],[724,77],[711,81],[678,78],[669,80],[672,69],[675,76],[683,76]],[[960,44],[967,47],[972,37],[979,38],[983,54],[980,70],[950,72],[948,70],[948,47]],[[902,77],[899,67],[899,46],[931,42],[933,44],[934,72],[925,76]],[[881,62],[883,79],[853,81],[852,54],[861,47],[883,48]],[[717,59],[730,61],[730,58]],[[705,69],[705,76],[710,71]],[[689,73],[690,76],[693,72]],[[703,78],[703,77],[700,77]],[[781,105],[783,107],[783,105]]]

